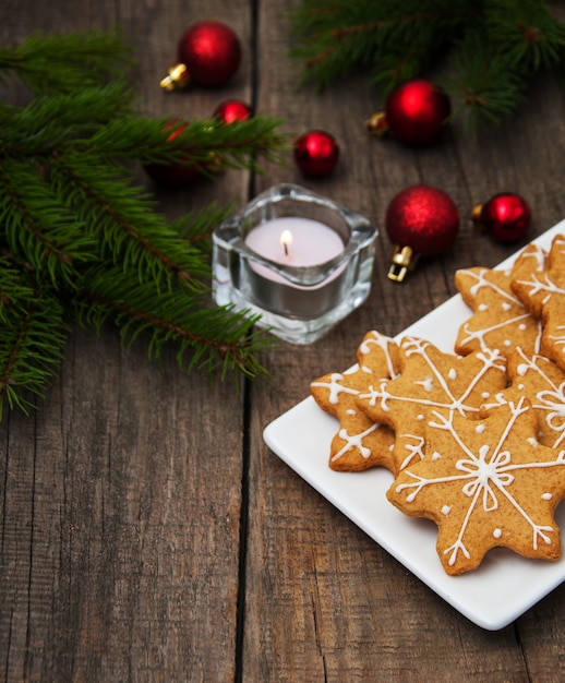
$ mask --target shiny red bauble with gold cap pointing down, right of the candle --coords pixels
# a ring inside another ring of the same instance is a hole
[[[388,277],[402,281],[419,256],[437,256],[453,244],[459,229],[459,213],[443,190],[411,185],[388,205],[385,228],[394,243]]]

